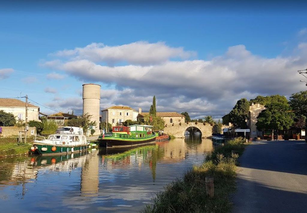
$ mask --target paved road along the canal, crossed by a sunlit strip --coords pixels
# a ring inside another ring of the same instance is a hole
[[[307,212],[307,143],[253,143],[239,162],[233,212]]]

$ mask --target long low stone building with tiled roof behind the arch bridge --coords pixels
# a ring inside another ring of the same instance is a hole
[[[149,112],[142,112],[142,109],[139,108],[138,120],[143,119],[146,115],[149,115]],[[185,116],[178,112],[157,112],[156,115],[161,117],[167,125],[185,123]]]

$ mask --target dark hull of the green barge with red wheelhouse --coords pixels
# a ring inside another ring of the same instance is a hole
[[[123,140],[116,138],[104,138],[98,139],[99,146],[107,147],[107,148],[116,148],[116,147],[134,147],[147,143],[155,143],[156,136],[151,137],[149,139],[135,139],[135,140]]]

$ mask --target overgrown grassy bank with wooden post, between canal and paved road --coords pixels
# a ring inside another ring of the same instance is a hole
[[[229,195],[235,191],[236,163],[244,151],[243,143],[237,138],[217,147],[202,165],[158,192],[142,212],[230,212]],[[214,198],[206,195],[207,176],[214,178]]]

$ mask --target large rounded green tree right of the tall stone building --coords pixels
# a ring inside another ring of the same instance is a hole
[[[257,117],[258,130],[271,130],[272,139],[274,130],[288,130],[293,125],[294,113],[290,105],[285,102],[271,102],[267,104]]]

